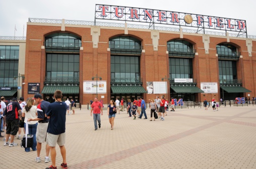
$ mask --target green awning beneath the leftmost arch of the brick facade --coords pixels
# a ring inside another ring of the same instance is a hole
[[[54,94],[56,90],[61,90],[62,94],[79,94],[79,86],[44,86],[43,94]]]

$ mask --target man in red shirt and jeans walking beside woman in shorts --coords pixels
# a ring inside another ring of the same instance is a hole
[[[101,125],[101,123],[100,123],[100,112],[101,112],[101,115],[103,115],[102,105],[98,101],[97,97],[94,98],[94,102],[91,105],[91,116],[92,116],[92,111],[93,111],[94,127],[95,127],[95,130],[97,130],[98,129],[97,121],[99,123],[99,128],[100,128],[100,125]]]

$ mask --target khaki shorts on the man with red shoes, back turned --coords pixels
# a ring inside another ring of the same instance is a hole
[[[51,147],[55,147],[56,143],[58,143],[59,146],[62,146],[65,144],[65,140],[66,133],[61,133],[58,135],[47,133],[46,144],[48,144]]]

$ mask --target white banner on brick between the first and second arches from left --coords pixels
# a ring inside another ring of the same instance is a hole
[[[107,93],[107,82],[106,81],[84,81],[83,91],[84,93]]]

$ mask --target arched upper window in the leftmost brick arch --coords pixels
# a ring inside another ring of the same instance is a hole
[[[81,38],[69,33],[54,33],[45,37],[45,47],[80,48]]]

